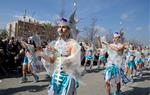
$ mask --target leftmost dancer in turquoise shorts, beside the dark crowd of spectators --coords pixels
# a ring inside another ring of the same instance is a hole
[[[21,41],[22,46],[25,49],[25,56],[24,56],[24,60],[23,60],[23,67],[22,67],[22,74],[23,77],[21,78],[20,83],[24,83],[26,82],[27,79],[27,73],[30,72],[35,81],[34,82],[38,82],[39,77],[36,74],[36,66],[37,66],[37,62],[38,61],[38,57],[35,55],[35,49],[36,49],[36,44],[34,41],[31,40],[31,37],[28,38],[28,43],[26,43],[25,41]]]

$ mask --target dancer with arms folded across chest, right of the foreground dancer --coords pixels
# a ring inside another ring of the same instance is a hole
[[[105,84],[106,84],[106,95],[110,95],[111,86],[110,84],[115,84],[117,91],[116,95],[120,95],[121,88],[121,76],[123,74],[121,70],[121,64],[123,62],[123,51],[125,45],[120,43],[120,34],[115,32],[113,34],[114,43],[107,44],[108,46],[108,62],[105,70]]]

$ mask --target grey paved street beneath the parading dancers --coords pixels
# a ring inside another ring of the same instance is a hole
[[[27,83],[19,84],[20,76],[1,78],[0,95],[47,95],[49,82],[44,74],[40,73],[40,82],[33,83],[33,77],[29,76]],[[105,95],[104,79],[102,71],[93,70],[86,73],[78,89],[78,95]],[[142,78],[135,78],[135,82],[122,86],[124,95],[150,95],[150,71],[145,70]]]

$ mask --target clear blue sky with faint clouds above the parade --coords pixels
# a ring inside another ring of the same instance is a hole
[[[74,0],[0,0],[0,28],[27,15],[38,20],[55,22],[63,8],[64,17],[73,11]],[[62,3],[64,2],[64,3]],[[149,0],[76,0],[79,30],[88,27],[92,19],[102,31],[117,32],[124,28],[125,37],[150,45]]]

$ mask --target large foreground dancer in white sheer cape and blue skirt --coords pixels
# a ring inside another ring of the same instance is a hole
[[[76,95],[80,77],[80,45],[67,36],[69,23],[62,18],[58,22],[59,37],[54,46],[49,47],[54,51],[50,56],[43,52],[39,55],[54,64],[52,80],[48,89],[48,95]]]

